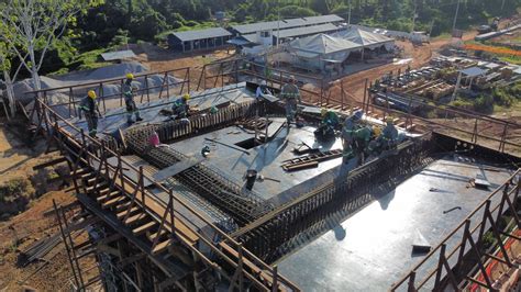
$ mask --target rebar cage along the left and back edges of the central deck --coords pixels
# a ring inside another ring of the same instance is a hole
[[[171,121],[134,128],[125,135],[126,145],[131,151],[142,156],[155,167],[164,169],[188,159],[188,157],[173,147],[151,147],[148,137],[153,132],[158,134],[162,142],[169,143],[252,116],[255,112],[254,106],[255,103],[244,102],[224,108],[215,114],[190,116],[189,123]],[[270,211],[269,205],[265,204],[259,195],[243,190],[241,186],[203,162],[181,171],[176,176],[176,179],[232,216],[240,226],[244,226]]]

